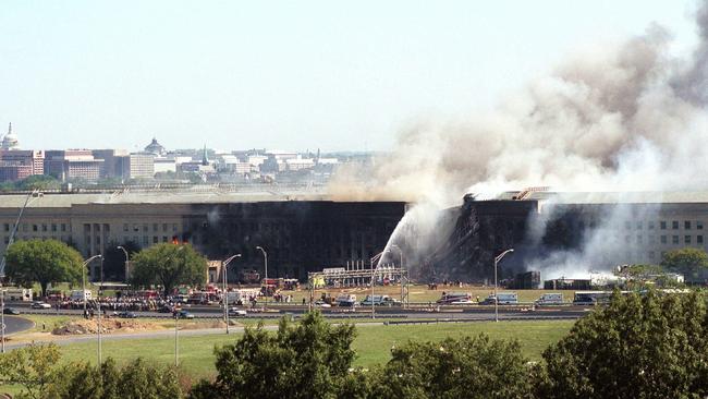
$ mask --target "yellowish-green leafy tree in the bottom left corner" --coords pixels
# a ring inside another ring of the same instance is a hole
[[[0,383],[22,386],[22,395],[42,398],[53,380],[53,370],[61,358],[59,347],[30,344],[0,355]]]

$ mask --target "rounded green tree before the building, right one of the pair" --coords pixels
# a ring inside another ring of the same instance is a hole
[[[164,295],[179,285],[202,285],[207,278],[207,258],[188,244],[156,244],[137,253],[132,262],[133,285],[160,285]]]

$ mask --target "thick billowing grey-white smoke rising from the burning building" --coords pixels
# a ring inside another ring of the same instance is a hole
[[[493,112],[410,126],[391,154],[369,170],[342,171],[330,190],[335,197],[442,208],[464,193],[537,185],[579,192],[708,188],[701,172],[708,170],[708,0],[696,23],[699,40],[689,58],[672,56],[671,35],[651,24],[642,36],[578,51]],[[544,262],[589,269],[607,247],[598,240],[609,232],[597,231],[598,239],[587,237],[577,253]]]

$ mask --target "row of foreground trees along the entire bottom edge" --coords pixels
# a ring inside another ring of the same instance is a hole
[[[410,341],[390,360],[354,367],[352,325],[313,312],[277,332],[247,328],[215,348],[217,375],[192,385],[180,371],[135,360],[61,365],[54,346],[0,356],[0,382],[30,398],[705,398],[708,307],[700,292],[620,295],[579,319],[530,362],[518,341],[486,335]],[[59,365],[58,365],[59,364]]]

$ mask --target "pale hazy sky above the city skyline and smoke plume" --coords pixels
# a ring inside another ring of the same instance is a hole
[[[23,148],[387,149],[491,107],[578,46],[694,1],[0,2],[0,130]]]

